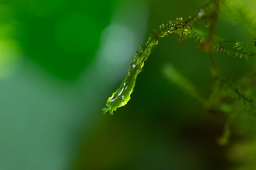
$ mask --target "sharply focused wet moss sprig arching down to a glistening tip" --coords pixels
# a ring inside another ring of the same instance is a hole
[[[105,114],[108,110],[111,114],[113,111],[116,111],[117,108],[121,106],[125,106],[127,102],[130,100],[130,94],[133,92],[133,88],[135,86],[136,78],[138,74],[142,71],[142,67],[144,66],[144,62],[147,60],[147,57],[151,53],[151,50],[154,46],[158,44],[158,40],[165,35],[171,33],[177,33],[180,35],[179,41],[184,40],[186,36],[187,30],[192,30],[192,25],[200,24],[200,21],[203,21],[209,16],[213,11],[214,3],[210,2],[204,8],[200,9],[199,12],[196,13],[194,17],[188,15],[188,20],[183,21],[182,18],[176,18],[175,21],[169,21],[167,24],[161,24],[159,26],[159,31],[154,30],[156,34],[149,35],[145,45],[140,46],[140,51],[137,51],[132,58],[132,63],[130,64],[130,69],[128,70],[128,74],[121,86],[109,97],[106,106],[108,108],[103,109],[103,114]]]

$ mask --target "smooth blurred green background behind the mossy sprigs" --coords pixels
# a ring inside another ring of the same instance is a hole
[[[230,145],[216,142],[224,121],[162,75],[163,65],[172,63],[209,96],[211,61],[192,39],[162,38],[128,105],[113,116],[101,114],[152,30],[194,15],[206,2],[0,1],[0,170],[236,167],[228,159]],[[256,4],[249,2],[254,12]],[[217,34],[253,48],[251,37],[224,14]],[[223,75],[234,81],[255,65],[254,59],[222,53],[217,60]]]

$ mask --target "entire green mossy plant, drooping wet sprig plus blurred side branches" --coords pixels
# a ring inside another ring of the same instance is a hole
[[[232,120],[241,113],[255,115],[253,110],[255,109],[255,101],[253,98],[248,98],[247,95],[255,94],[253,93],[255,91],[255,89],[253,89],[254,82],[251,78],[255,75],[256,69],[252,70],[251,75],[238,81],[240,83],[234,83],[222,76],[221,69],[215,59],[216,52],[225,52],[230,56],[239,56],[246,60],[249,57],[256,56],[256,53],[248,49],[247,43],[236,40],[226,40],[215,34],[219,11],[222,7],[228,7],[232,9],[230,13],[233,14],[240,25],[246,28],[249,35],[251,37],[256,36],[256,30],[254,29],[254,25],[256,25],[254,24],[256,23],[255,19],[248,13],[246,7],[237,4],[239,4],[239,1],[211,0],[197,11],[195,16],[187,15],[186,21],[182,18],[176,18],[175,21],[169,21],[167,24],[160,25],[159,30],[154,30],[155,34],[149,35],[145,45],[141,45],[140,50],[134,54],[126,78],[107,100],[107,108],[102,109],[102,111],[104,111],[103,114],[108,111],[113,114],[113,111],[116,111],[117,108],[127,104],[133,92],[136,78],[142,71],[144,62],[147,60],[153,47],[158,44],[161,37],[176,33],[179,35],[180,42],[188,38],[194,38],[196,41],[199,41],[198,47],[207,52],[210,56],[213,64],[211,74],[214,78],[212,93],[209,99],[201,97],[192,83],[182,76],[171,64],[163,66],[163,74],[169,81],[176,83],[187,94],[196,99],[206,110],[218,110],[218,112],[227,116],[224,133],[218,140],[220,145],[226,145],[230,136],[230,124]],[[207,28],[208,31],[205,28]],[[256,38],[252,38],[252,40],[256,46]],[[242,93],[242,91],[247,92],[247,95]],[[243,102],[245,106],[241,107],[238,105],[239,102]]]

